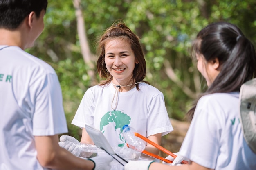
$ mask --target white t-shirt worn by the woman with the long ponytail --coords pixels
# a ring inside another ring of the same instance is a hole
[[[191,161],[215,170],[255,170],[256,154],[243,138],[239,93],[216,93],[198,101],[180,149]]]

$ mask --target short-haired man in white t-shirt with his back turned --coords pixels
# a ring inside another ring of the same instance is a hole
[[[108,170],[112,157],[86,160],[58,145],[67,133],[58,77],[24,51],[43,31],[47,4],[0,1],[0,170]]]

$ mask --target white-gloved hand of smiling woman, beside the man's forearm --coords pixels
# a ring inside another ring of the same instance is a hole
[[[76,147],[76,144],[80,144],[80,142],[74,137],[62,135],[60,137],[60,141],[61,142],[58,142],[58,145],[61,146],[61,148],[68,150],[70,153],[77,157],[80,155],[81,151],[78,147]]]

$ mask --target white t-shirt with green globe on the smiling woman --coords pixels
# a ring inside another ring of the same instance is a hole
[[[139,134],[148,137],[173,131],[166,111],[164,96],[155,87],[139,83],[128,92],[119,92],[117,108],[111,108],[115,87],[96,85],[89,88],[81,100],[72,124],[81,128],[85,124],[99,129],[112,147],[124,146],[122,127],[130,125]],[[116,100],[113,101],[115,105]]]

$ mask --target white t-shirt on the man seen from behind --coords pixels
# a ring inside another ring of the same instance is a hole
[[[34,136],[67,132],[54,69],[17,46],[4,48],[0,95],[0,169],[46,169],[36,159]]]

